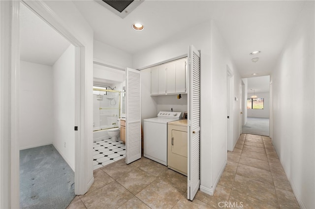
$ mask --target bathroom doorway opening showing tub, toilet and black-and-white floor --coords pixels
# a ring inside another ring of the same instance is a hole
[[[126,157],[125,71],[94,63],[93,169]]]

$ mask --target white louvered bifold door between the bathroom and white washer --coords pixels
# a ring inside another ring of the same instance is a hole
[[[126,163],[141,158],[140,71],[126,68]]]

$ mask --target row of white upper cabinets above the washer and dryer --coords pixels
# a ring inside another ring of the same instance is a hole
[[[187,93],[187,58],[151,68],[151,95]]]

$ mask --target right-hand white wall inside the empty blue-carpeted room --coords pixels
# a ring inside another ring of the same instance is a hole
[[[70,45],[53,65],[53,144],[74,170],[74,46]]]

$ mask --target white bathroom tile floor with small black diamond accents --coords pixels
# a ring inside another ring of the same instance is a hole
[[[125,158],[126,145],[123,141],[104,139],[93,142],[93,169],[100,168],[112,162]]]

